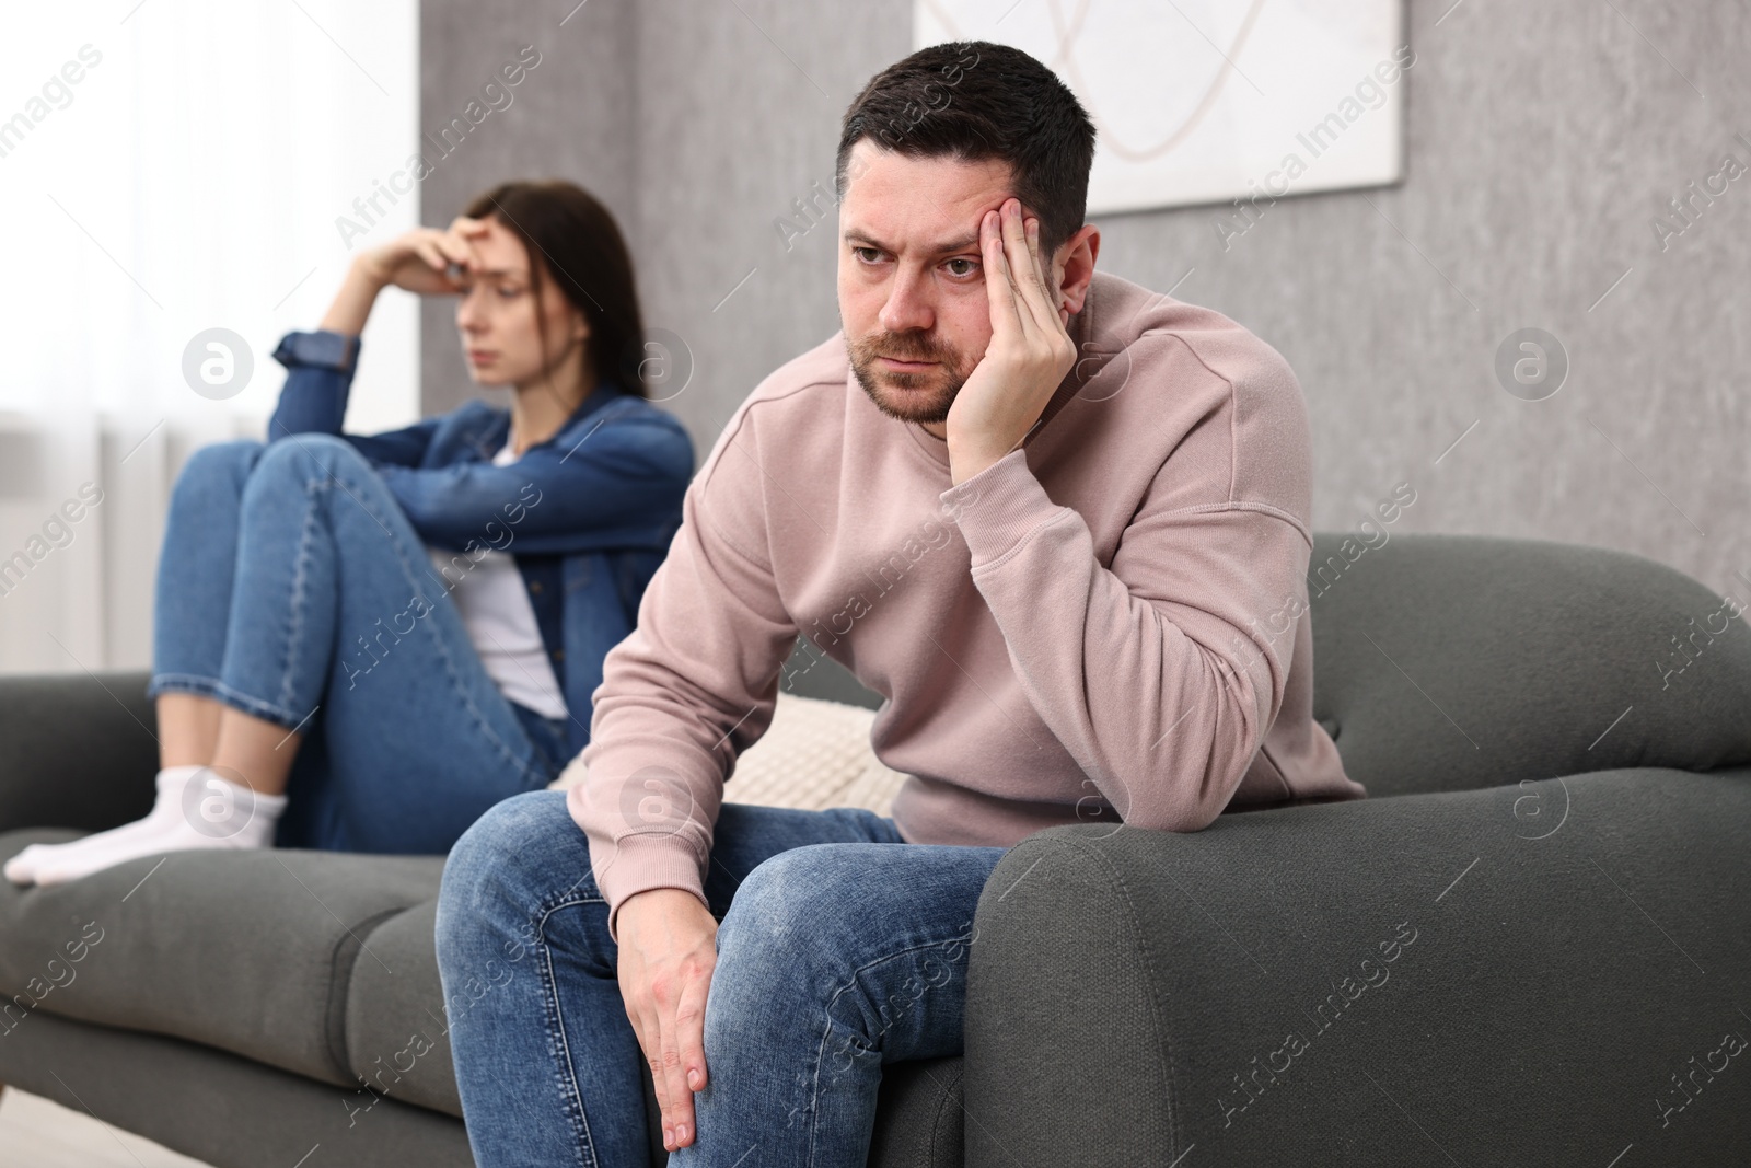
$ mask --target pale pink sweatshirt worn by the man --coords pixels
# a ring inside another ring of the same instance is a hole
[[[737,408],[637,629],[604,660],[567,795],[609,905],[704,900],[735,756],[802,632],[886,700],[876,755],[914,844],[1056,823],[1194,832],[1359,799],[1313,721],[1301,385],[1227,317],[1096,273],[1082,354],[1023,447],[960,487],[881,413],[844,334]]]

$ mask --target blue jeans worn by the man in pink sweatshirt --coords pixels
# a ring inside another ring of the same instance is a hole
[[[669,1164],[863,1168],[884,1063],[958,1054],[974,909],[1003,848],[905,844],[872,811],[723,804],[697,1135]],[[438,972],[480,1168],[650,1164],[608,904],[564,792],[471,827]]]

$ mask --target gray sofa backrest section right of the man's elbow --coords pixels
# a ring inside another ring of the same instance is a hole
[[[1369,795],[1751,760],[1744,599],[1541,539],[1313,545],[1313,716]]]

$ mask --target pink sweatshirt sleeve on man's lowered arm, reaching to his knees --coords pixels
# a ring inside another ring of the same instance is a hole
[[[772,723],[797,639],[774,585],[744,419],[746,406],[688,485],[637,627],[602,662],[585,777],[566,797],[616,942],[634,893],[685,888],[706,900],[723,781]]]

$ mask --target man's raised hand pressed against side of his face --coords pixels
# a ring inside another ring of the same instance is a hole
[[[1070,312],[1058,306],[1051,259],[1040,259],[1040,221],[1024,221],[1021,201],[1009,198],[979,221],[979,249],[991,343],[949,406],[956,485],[1021,445],[1077,361]]]

